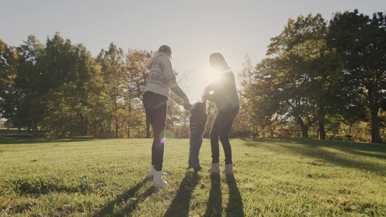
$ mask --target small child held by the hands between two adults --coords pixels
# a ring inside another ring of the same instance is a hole
[[[198,153],[200,152],[202,144],[202,135],[205,132],[207,125],[208,114],[207,104],[204,102],[196,102],[190,109],[190,154],[189,154],[189,167],[195,171],[200,171],[200,159],[198,159]]]

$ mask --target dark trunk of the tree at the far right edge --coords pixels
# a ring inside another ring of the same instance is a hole
[[[371,112],[371,142],[373,143],[383,143],[381,134],[379,132],[379,105],[378,100],[374,97],[374,93],[371,89],[368,89],[368,99],[370,104],[370,112]]]

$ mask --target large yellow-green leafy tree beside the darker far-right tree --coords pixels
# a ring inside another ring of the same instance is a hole
[[[261,79],[272,81],[270,86],[281,85],[275,93],[281,96],[280,110],[297,119],[303,137],[308,137],[308,126],[317,121],[320,138],[325,139],[326,115],[342,107],[339,97],[344,93],[339,81],[343,66],[335,50],[328,49],[326,35],[327,23],[320,14],[289,19],[284,31],[268,46],[267,54],[278,57],[259,67],[260,71],[275,71],[272,75],[263,73]]]

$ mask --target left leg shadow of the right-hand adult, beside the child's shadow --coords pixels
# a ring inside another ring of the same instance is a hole
[[[210,175],[211,188],[207,203],[206,216],[217,217],[222,215],[221,179],[220,173]]]

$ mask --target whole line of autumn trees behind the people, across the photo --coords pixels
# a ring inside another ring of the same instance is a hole
[[[239,73],[232,137],[385,140],[386,16],[336,13],[289,19],[267,58]],[[92,57],[59,33],[18,47],[0,40],[0,115],[51,137],[150,137],[142,106],[154,51],[111,43]],[[188,77],[178,75],[180,83]],[[169,101],[167,137],[189,136],[189,112]],[[208,104],[208,136],[216,110]]]

